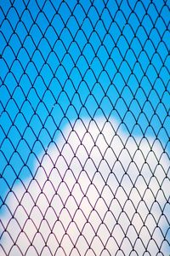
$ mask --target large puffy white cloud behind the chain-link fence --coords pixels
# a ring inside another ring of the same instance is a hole
[[[51,143],[8,195],[0,255],[166,255],[167,154],[117,128],[77,120]]]

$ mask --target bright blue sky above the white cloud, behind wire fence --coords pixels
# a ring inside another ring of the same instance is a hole
[[[51,2],[0,5],[0,204],[77,118],[169,153],[168,2]]]

